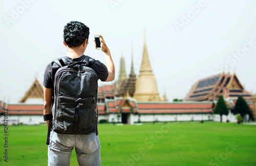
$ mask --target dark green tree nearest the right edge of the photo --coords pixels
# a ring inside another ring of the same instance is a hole
[[[244,117],[246,114],[251,114],[251,109],[242,96],[238,96],[236,105],[234,105],[234,115],[236,114],[240,114],[241,117]]]

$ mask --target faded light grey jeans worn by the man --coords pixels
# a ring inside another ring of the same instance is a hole
[[[75,147],[78,164],[88,166],[100,165],[100,142],[96,133],[60,134],[51,131],[48,147],[48,165],[69,165]]]

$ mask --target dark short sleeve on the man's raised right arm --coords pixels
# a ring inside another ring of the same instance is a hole
[[[93,70],[96,72],[98,78],[101,80],[101,81],[105,81],[108,76],[109,76],[109,71],[108,71],[108,68],[106,68],[106,66],[101,63],[100,61],[95,61],[92,66]]]

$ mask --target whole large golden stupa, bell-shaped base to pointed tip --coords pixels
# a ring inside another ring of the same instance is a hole
[[[145,32],[143,57],[140,74],[136,80],[134,98],[137,101],[162,101],[157,90],[157,81],[154,73],[152,72],[150,60],[147,54]]]

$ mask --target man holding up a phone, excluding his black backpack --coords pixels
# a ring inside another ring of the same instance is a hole
[[[63,44],[67,46],[68,54],[64,57],[67,62],[83,61],[86,57],[84,51],[88,45],[89,27],[82,22],[71,21],[63,31]],[[105,53],[106,65],[95,61],[91,68],[101,81],[112,81],[115,78],[115,67],[110,50],[100,35],[102,51]],[[96,47],[96,44],[95,44]],[[44,115],[50,114],[52,97],[54,93],[54,77],[59,66],[51,62],[44,75]],[[46,121],[49,126],[49,120]],[[69,165],[73,148],[75,147],[79,165],[100,165],[100,143],[96,132],[90,134],[61,134],[51,131],[50,145],[48,147],[48,165]]]

